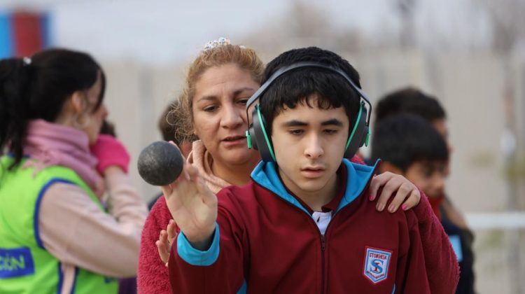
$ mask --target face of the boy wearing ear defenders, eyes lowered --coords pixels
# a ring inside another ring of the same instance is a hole
[[[318,109],[317,97],[295,109],[284,108],[273,121],[272,142],[284,185],[298,197],[334,190],[349,118],[343,107]]]

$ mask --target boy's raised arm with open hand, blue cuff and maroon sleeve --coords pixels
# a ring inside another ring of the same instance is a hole
[[[181,230],[169,254],[172,293],[237,293],[244,285],[242,222],[218,206],[195,167],[188,165],[185,172],[162,187]]]

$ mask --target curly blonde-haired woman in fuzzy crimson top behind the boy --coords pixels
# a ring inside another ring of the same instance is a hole
[[[181,103],[175,109],[177,116],[186,123],[178,131],[182,137],[191,134],[199,137],[200,140],[193,144],[187,162],[197,167],[214,193],[225,186],[248,183],[251,171],[260,160],[257,151],[246,148],[244,133],[248,129],[246,102],[258,89],[263,71],[264,65],[254,50],[231,45],[224,38],[209,42],[190,64]],[[353,158],[353,161],[362,162],[358,158]],[[386,207],[386,201],[392,193],[396,195],[388,211],[395,211],[401,204],[405,205],[403,209],[410,209],[419,203],[419,190],[400,176],[381,174],[374,178],[371,185],[371,190],[376,192],[382,187],[377,203],[380,211]],[[376,198],[376,193],[372,195],[374,197],[370,200]],[[421,214],[426,216],[427,212],[422,211]],[[165,198],[160,197],[142,232],[139,293],[171,293],[165,266],[169,255],[168,239],[174,237],[175,225],[170,221],[171,218]],[[425,220],[425,225],[426,234],[431,236],[436,223]],[[433,265],[437,265],[436,271],[449,269],[447,262],[434,262]],[[446,286],[435,293],[447,293]]]

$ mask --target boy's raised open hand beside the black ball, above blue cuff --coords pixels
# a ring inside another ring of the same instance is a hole
[[[217,197],[204,184],[197,168],[185,165],[179,179],[161,188],[172,218],[186,239],[198,250],[209,248],[217,219]]]

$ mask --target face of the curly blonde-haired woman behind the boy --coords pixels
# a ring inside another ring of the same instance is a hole
[[[246,102],[258,87],[236,64],[213,66],[195,83],[193,126],[214,163],[253,165],[258,160],[258,152],[246,144]]]

